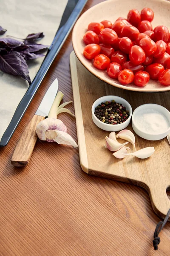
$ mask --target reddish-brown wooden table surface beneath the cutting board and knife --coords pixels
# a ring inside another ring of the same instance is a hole
[[[83,12],[99,2],[88,0]],[[64,101],[73,99],[72,49],[70,34],[10,142],[0,148],[0,256],[169,256],[170,223],[153,250],[160,218],[147,192],[85,174],[78,149],[39,140],[28,166],[11,166],[21,134],[56,77]],[[74,112],[74,104],[68,108]],[[77,141],[74,118],[59,118]]]

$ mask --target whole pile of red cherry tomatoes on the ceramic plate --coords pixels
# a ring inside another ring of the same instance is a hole
[[[170,32],[166,26],[153,29],[154,13],[149,8],[128,12],[115,23],[92,22],[83,37],[85,58],[94,67],[107,70],[121,84],[145,86],[150,79],[170,85]]]

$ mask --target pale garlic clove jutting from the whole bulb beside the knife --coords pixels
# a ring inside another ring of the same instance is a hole
[[[78,147],[75,140],[64,131],[56,131],[57,137],[54,139],[58,144],[71,145],[74,148]]]

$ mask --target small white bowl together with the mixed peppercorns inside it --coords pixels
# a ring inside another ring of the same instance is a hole
[[[91,108],[91,112],[95,125],[105,131],[125,129],[132,117],[132,107],[129,102],[113,95],[97,99]]]

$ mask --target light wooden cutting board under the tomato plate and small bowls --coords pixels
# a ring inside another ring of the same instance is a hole
[[[154,154],[147,159],[126,156],[116,159],[104,147],[108,131],[98,128],[91,118],[91,107],[96,99],[115,95],[126,99],[133,108],[146,103],[156,103],[170,110],[170,92],[139,93],[113,87],[93,76],[79,62],[74,52],[70,55],[74,108],[77,124],[79,157],[82,170],[88,174],[142,186],[150,195],[156,214],[164,218],[170,209],[166,190],[170,189],[170,145],[167,138],[149,141],[136,137],[136,150],[154,146]],[[131,123],[126,129],[133,131]],[[118,139],[120,143],[125,140]],[[130,144],[130,143],[129,143]],[[130,151],[132,146],[129,145]]]

